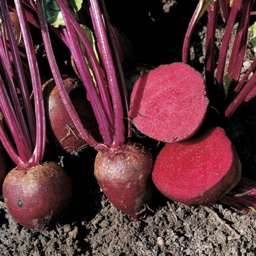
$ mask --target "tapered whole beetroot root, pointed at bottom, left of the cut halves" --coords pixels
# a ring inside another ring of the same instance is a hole
[[[138,220],[138,213],[152,197],[152,166],[150,151],[140,144],[130,144],[100,151],[94,174],[109,201]]]

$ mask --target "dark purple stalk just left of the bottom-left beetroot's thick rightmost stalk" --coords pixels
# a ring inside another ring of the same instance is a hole
[[[35,123],[33,108],[32,108],[31,101],[30,101],[28,87],[27,87],[27,83],[26,83],[26,77],[25,77],[24,69],[23,69],[22,63],[21,63],[19,49],[16,44],[16,39],[15,39],[15,36],[13,33],[11,17],[10,17],[10,13],[8,12],[6,0],[1,1],[0,5],[2,8],[4,21],[6,23],[6,30],[7,30],[10,46],[11,46],[10,48],[12,50],[12,57],[13,57],[15,70],[17,71],[17,77],[18,77],[21,96],[22,96],[22,103],[25,108],[25,113],[26,113],[27,120],[28,120],[32,143],[33,143],[33,146],[35,146],[36,123]],[[32,150],[32,145],[31,145],[31,150]]]

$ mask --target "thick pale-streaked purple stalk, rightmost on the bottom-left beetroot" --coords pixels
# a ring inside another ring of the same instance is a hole
[[[40,163],[43,160],[45,141],[46,141],[46,124],[44,113],[44,101],[41,89],[41,80],[36,60],[36,54],[32,43],[32,38],[28,28],[25,11],[21,0],[14,0],[18,13],[20,28],[28,56],[28,64],[32,78],[32,86],[34,91],[35,113],[36,113],[36,146],[29,160],[30,163]]]

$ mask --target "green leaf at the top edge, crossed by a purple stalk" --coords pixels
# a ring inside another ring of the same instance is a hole
[[[69,4],[70,3],[70,4]],[[68,6],[74,13],[78,12],[82,7],[83,0],[69,0]],[[65,26],[60,6],[54,0],[44,0],[44,9],[47,21],[58,28],[60,25]]]

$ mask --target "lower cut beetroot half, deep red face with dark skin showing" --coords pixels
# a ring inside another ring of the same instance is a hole
[[[210,204],[239,182],[236,149],[220,127],[167,144],[156,158],[153,181],[166,197],[187,205]]]

